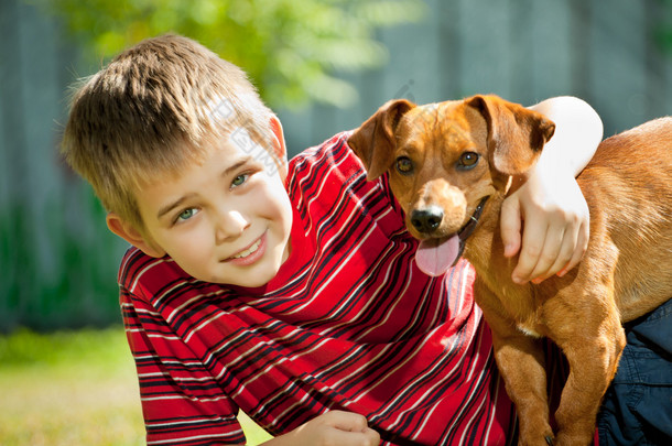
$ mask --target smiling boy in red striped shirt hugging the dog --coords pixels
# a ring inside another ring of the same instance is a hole
[[[601,138],[578,100],[538,109],[562,149],[549,144],[548,171],[502,211],[508,255],[525,219],[520,282],[579,260],[587,209],[573,176]],[[64,153],[133,244],[120,302],[148,444],[242,444],[239,409],[277,445],[512,435],[470,265],[418,270],[386,177],[367,182],[346,140],[288,165],[280,121],[245,74],[174,35],[126,51],[75,96]]]

